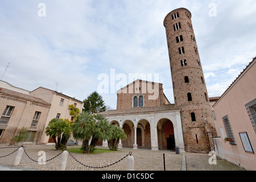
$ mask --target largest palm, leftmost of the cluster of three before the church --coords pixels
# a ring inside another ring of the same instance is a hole
[[[96,122],[89,112],[82,112],[77,115],[75,123],[72,125],[73,137],[82,140],[81,150],[83,153],[89,152],[89,140],[96,130]]]

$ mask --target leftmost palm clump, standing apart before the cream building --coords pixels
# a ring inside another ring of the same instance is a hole
[[[64,119],[53,118],[46,127],[46,135],[53,138],[57,150],[64,150],[71,132],[71,126]]]

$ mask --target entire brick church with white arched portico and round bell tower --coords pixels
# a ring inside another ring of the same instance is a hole
[[[216,129],[191,13],[184,8],[171,11],[164,27],[175,104],[167,100],[162,84],[136,80],[118,90],[117,110],[101,114],[125,131],[127,138],[120,140],[119,147],[176,146],[180,152],[208,152],[213,150]]]

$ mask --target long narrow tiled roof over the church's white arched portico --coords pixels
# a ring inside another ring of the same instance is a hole
[[[144,114],[144,113],[154,113],[158,111],[168,111],[168,110],[179,110],[175,107],[174,104],[168,104],[158,107],[133,107],[130,109],[123,110],[108,110],[99,114],[110,116],[110,115],[119,115],[119,114]]]

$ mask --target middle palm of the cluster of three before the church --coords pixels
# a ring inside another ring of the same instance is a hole
[[[96,122],[96,130],[92,137],[92,146],[95,147],[98,140],[108,140],[112,131],[108,119],[101,114],[93,115]]]

